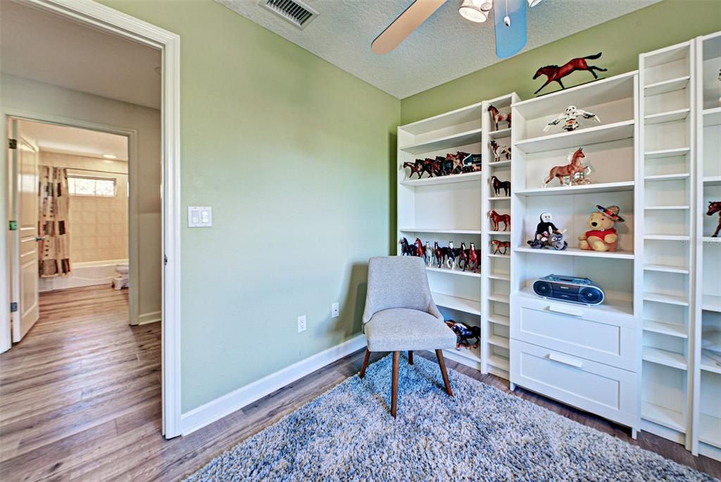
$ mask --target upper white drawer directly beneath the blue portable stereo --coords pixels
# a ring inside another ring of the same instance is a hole
[[[631,315],[584,305],[518,296],[510,337],[596,362],[637,371],[637,333]]]

